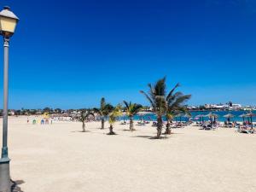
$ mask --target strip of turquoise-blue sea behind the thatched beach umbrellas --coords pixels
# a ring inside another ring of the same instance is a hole
[[[208,113],[211,113],[210,111],[204,111],[204,112],[192,112],[192,117],[191,118],[195,118],[196,115],[199,115],[199,114],[203,114],[203,115],[207,115]],[[248,113],[248,111],[212,111],[212,113],[214,114],[218,114],[218,121],[222,121],[224,122],[226,120],[226,118],[224,118],[224,115],[225,114],[228,114],[228,113],[231,113],[234,115],[234,118],[231,119],[231,121],[242,121],[242,118],[239,117],[241,114],[245,114],[245,113]],[[256,111],[253,111],[253,113],[256,113]],[[148,114],[144,114],[144,115],[136,115],[134,117],[135,120],[140,120],[140,119],[144,119],[144,120],[156,120],[156,116],[154,115],[154,113],[148,113]],[[123,116],[123,117],[120,117],[119,120],[122,120],[122,119],[125,119],[125,120],[128,120],[128,118],[126,116]],[[187,120],[187,118],[185,117],[182,117],[181,118],[182,121],[185,121]],[[207,120],[208,118],[204,118],[205,120]],[[180,118],[176,118],[175,120],[180,120]],[[256,121],[256,117],[253,117],[253,121],[255,122]]]

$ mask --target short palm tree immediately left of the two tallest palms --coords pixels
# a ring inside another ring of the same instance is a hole
[[[124,103],[125,103],[125,112],[127,116],[130,118],[130,131],[135,131],[134,125],[133,125],[133,117],[134,115],[139,113],[139,111],[143,108],[143,106],[137,103],[131,103],[131,102],[128,103],[125,101]]]

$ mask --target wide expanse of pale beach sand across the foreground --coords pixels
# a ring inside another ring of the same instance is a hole
[[[1,120],[2,125],[2,120]],[[100,123],[27,125],[9,118],[11,175],[25,192],[255,192],[256,134],[151,126],[108,136]],[[1,136],[2,138],[2,136]]]

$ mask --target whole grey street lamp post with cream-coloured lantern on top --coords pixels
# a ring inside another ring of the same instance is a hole
[[[11,183],[9,175],[8,156],[8,80],[9,80],[9,39],[15,33],[18,17],[4,7],[0,12],[0,34],[3,36],[3,148],[0,159],[0,192],[10,192]]]

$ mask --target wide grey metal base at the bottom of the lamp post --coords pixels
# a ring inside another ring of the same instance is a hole
[[[0,159],[0,192],[10,192],[9,158]]]

